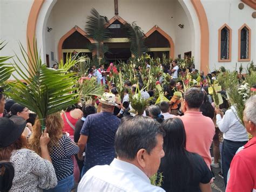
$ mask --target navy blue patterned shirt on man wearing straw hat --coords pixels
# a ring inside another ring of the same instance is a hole
[[[120,119],[108,112],[88,115],[80,134],[87,135],[85,148],[85,172],[96,165],[110,164],[116,152],[114,136]]]

